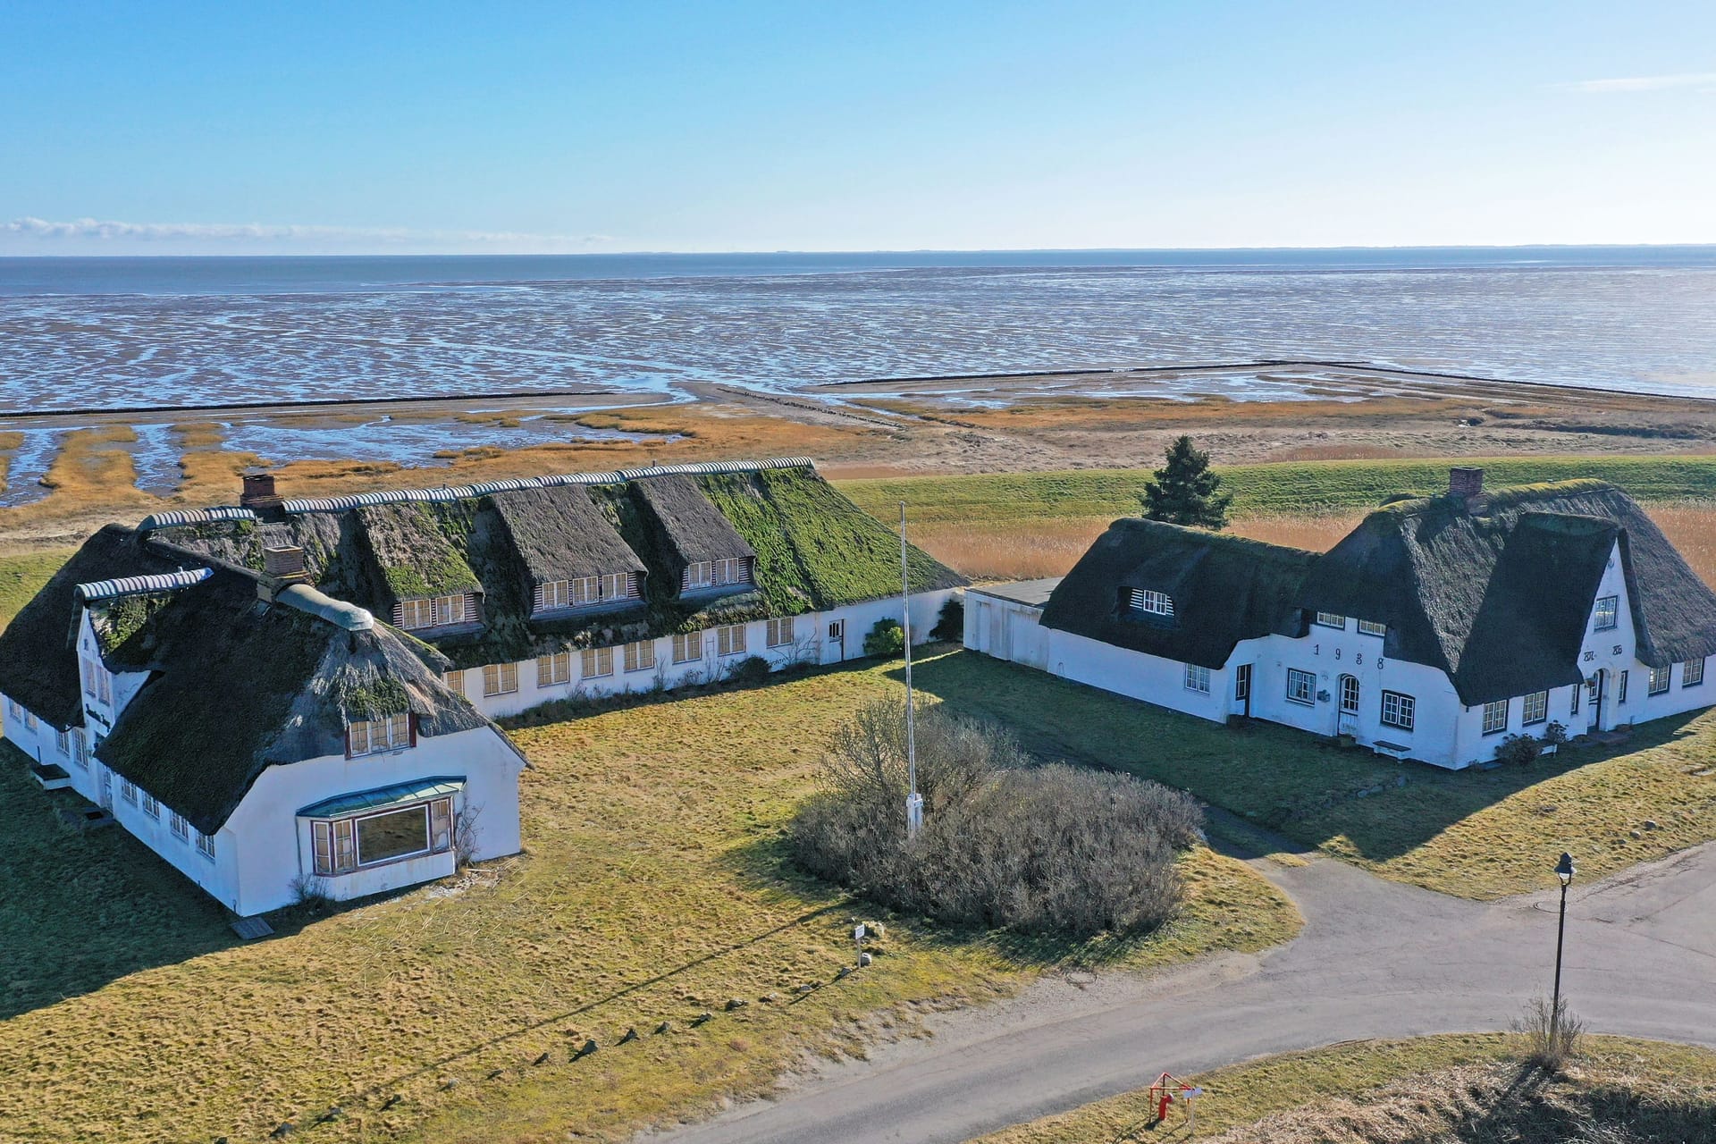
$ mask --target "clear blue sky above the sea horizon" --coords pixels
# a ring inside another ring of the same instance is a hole
[[[1716,242],[1716,3],[0,5],[0,254]]]

